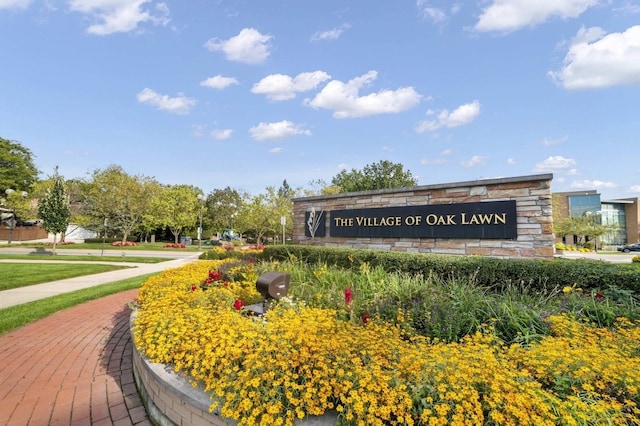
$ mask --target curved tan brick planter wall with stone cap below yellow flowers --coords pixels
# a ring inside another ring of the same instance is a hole
[[[131,314],[133,325],[135,312]],[[132,333],[133,334],[133,333]],[[227,426],[236,422],[209,413],[211,400],[202,386],[189,381],[165,364],[150,362],[133,345],[133,376],[149,417],[158,425]],[[329,426],[337,423],[335,413],[296,422],[300,426]]]

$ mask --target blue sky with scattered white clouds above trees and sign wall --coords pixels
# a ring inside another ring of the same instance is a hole
[[[0,137],[251,194],[401,163],[640,197],[630,0],[0,0]]]

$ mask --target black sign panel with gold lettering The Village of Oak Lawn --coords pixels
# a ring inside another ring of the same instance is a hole
[[[332,210],[332,237],[516,239],[516,202]]]

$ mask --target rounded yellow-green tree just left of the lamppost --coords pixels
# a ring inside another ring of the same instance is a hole
[[[178,243],[183,230],[197,222],[200,212],[198,194],[200,190],[191,185],[171,185],[163,187],[156,198],[154,211],[157,220],[173,234]]]

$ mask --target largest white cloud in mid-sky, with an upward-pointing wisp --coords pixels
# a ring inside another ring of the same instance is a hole
[[[398,113],[411,109],[420,103],[422,96],[413,87],[380,90],[376,93],[360,96],[360,89],[371,84],[377,76],[376,71],[369,71],[347,83],[332,80],[313,99],[306,100],[305,103],[312,108],[333,110],[335,118]]]

